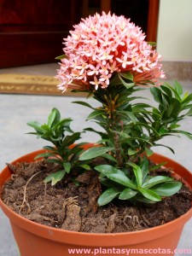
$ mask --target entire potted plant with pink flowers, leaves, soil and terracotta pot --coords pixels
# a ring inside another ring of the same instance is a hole
[[[0,204],[22,256],[174,253],[192,214],[192,175],[152,148],[170,135],[192,138],[179,125],[192,114],[192,95],[177,82],[159,82],[165,78],[160,55],[144,39],[138,26],[110,13],[82,20],[65,39],[58,87],[96,99],[97,108],[76,103],[90,108],[87,119],[102,127],[84,131],[101,139],[78,143],[81,133],[56,108],[47,124],[28,123],[53,146],[0,174]],[[145,89],[156,106],[137,96]]]

